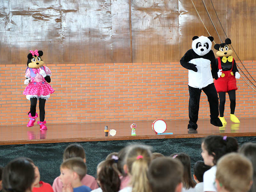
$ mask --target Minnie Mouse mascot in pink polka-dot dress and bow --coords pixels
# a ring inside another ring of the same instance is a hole
[[[48,67],[43,66],[44,61],[41,59],[43,55],[42,51],[31,51],[28,54],[28,63],[26,75],[27,79],[24,84],[27,84],[23,94],[26,98],[30,100],[30,111],[28,112],[29,122],[27,127],[33,127],[38,117],[36,113],[36,103],[39,100],[39,111],[40,111],[40,121],[37,124],[40,125],[40,130],[45,130],[46,121],[44,121],[45,111],[44,106],[47,99],[49,99],[50,94],[54,92],[51,85],[51,70]]]

